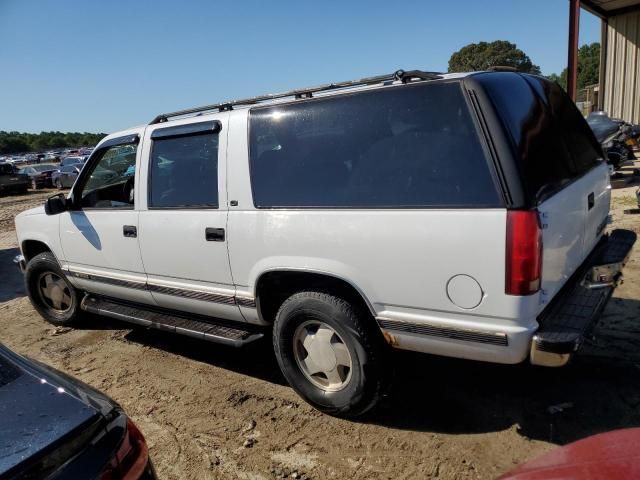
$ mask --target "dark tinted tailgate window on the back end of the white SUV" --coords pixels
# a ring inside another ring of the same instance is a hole
[[[481,83],[511,136],[529,201],[544,200],[598,164],[589,126],[557,84],[514,74],[485,74]]]

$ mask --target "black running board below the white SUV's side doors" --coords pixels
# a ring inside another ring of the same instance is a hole
[[[242,347],[254,342],[264,334],[243,324],[222,323],[198,315],[186,316],[183,313],[162,312],[153,307],[119,303],[110,299],[87,295],[82,299],[80,308],[89,313],[135,323],[143,327],[157,328],[168,332],[222,343],[231,347]]]

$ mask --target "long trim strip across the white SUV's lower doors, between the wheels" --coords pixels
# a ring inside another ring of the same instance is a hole
[[[175,297],[190,298],[193,300],[202,300],[205,302],[220,303],[224,305],[238,305],[247,308],[256,308],[254,298],[246,296],[226,295],[223,293],[210,293],[201,290],[191,290],[186,288],[166,287],[149,282],[140,282],[135,280],[122,280],[119,278],[107,277],[105,275],[96,275],[93,273],[77,272],[71,269],[67,270],[67,274],[83,280],[92,282],[106,283],[116,287],[134,288],[137,290],[147,290],[152,293],[160,293],[163,295],[173,295]]]

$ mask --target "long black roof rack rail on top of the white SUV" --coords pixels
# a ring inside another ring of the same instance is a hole
[[[415,80],[437,80],[440,78],[442,78],[442,74],[437,72],[423,72],[422,70],[410,70],[408,72],[405,72],[404,70],[398,70],[390,75],[378,75],[376,77],[361,78],[360,80],[349,80],[346,82],[328,83],[325,85],[319,85],[317,87],[303,88],[299,90],[289,90],[288,92],[282,92],[282,93],[271,93],[268,95],[261,95],[258,97],[250,97],[250,98],[244,98],[241,100],[232,100],[229,102],[214,103],[212,105],[205,105],[203,107],[178,110],[177,112],[162,113],[157,117],[155,117],[153,120],[151,120],[149,125],[153,125],[155,123],[167,122],[170,118],[173,118],[173,117],[183,117],[183,116],[192,115],[192,114],[202,114],[203,112],[210,112],[214,110],[218,110],[219,112],[225,112],[228,110],[233,110],[233,107],[238,105],[255,105],[256,103],[265,102],[268,100],[276,100],[279,98],[286,98],[286,97],[294,97],[296,99],[311,98],[313,97],[314,93],[325,92],[328,90],[336,90],[339,88],[351,88],[351,87],[358,87],[362,85],[375,85],[376,83],[394,82],[398,80],[401,81],[402,83],[409,83]]]

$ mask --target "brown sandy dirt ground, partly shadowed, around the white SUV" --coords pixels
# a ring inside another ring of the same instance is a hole
[[[623,212],[635,207],[634,182],[614,182],[613,226],[638,232],[640,215]],[[69,331],[45,323],[11,259],[14,215],[49,194],[0,198],[0,341],[117,400],[160,478],[494,478],[556,445],[640,426],[640,246],[569,366],[394,352],[392,393],[345,421],[300,400],[268,340],[235,350],[97,317]]]

